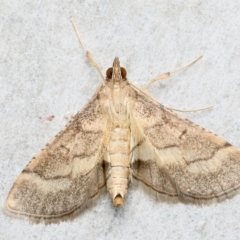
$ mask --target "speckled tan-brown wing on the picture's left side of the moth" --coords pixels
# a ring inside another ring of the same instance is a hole
[[[9,213],[57,219],[73,213],[105,184],[105,119],[93,96],[66,128],[26,166],[6,201]]]

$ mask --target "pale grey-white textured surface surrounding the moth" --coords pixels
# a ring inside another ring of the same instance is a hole
[[[92,96],[100,77],[70,23],[74,17],[103,72],[117,55],[164,105],[240,148],[239,1],[10,1],[0,6],[1,206],[28,161]],[[54,115],[52,121],[47,118]],[[239,173],[240,174],[240,173]],[[240,196],[198,207],[156,201],[131,187],[121,209],[105,194],[72,222],[30,224],[0,214],[0,239],[239,239]]]

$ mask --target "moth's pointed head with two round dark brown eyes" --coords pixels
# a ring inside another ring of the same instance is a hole
[[[107,70],[106,80],[107,81],[112,80],[113,82],[127,80],[127,71],[125,68],[120,66],[120,61],[118,57],[115,57],[113,61],[113,66]]]

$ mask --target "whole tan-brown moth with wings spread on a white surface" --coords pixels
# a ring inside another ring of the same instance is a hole
[[[115,58],[92,99],[17,178],[7,213],[51,222],[81,209],[104,186],[122,206],[131,177],[189,202],[235,194],[240,151],[156,102],[126,75]]]

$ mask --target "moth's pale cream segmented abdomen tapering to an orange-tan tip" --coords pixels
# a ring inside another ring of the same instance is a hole
[[[130,129],[128,127],[113,128],[105,157],[107,189],[115,206],[123,205],[123,199],[128,189],[130,175],[129,137]]]

